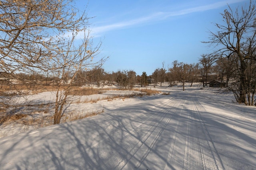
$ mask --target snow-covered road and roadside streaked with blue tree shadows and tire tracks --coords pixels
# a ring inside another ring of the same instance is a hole
[[[256,107],[200,85],[156,89],[170,94],[72,104],[104,113],[6,135],[0,169],[256,170]]]

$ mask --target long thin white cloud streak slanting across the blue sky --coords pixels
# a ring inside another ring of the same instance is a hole
[[[126,28],[126,27],[132,27],[135,25],[144,24],[144,23],[148,23],[148,22],[154,22],[154,21],[158,21],[158,20],[164,20],[164,19],[170,18],[172,16],[182,16],[182,15],[191,14],[194,12],[204,12],[207,10],[217,9],[217,8],[226,6],[227,4],[234,4],[234,3],[238,3],[238,2],[242,2],[242,1],[245,1],[245,0],[226,0],[226,1],[222,1],[222,2],[216,2],[214,4],[179,10],[176,12],[157,12],[157,13],[151,14],[146,17],[136,18],[134,20],[122,21],[122,22],[118,22],[118,23],[112,23],[109,25],[94,27],[94,28],[92,28],[92,33],[96,35],[96,34],[99,34],[102,32],[106,32],[106,31],[122,29],[122,28]]]

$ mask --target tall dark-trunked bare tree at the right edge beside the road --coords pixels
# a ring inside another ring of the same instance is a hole
[[[216,23],[218,31],[216,33],[210,32],[210,45],[216,45],[219,50],[216,51],[220,56],[226,55],[230,57],[234,55],[239,62],[239,97],[238,102],[250,105],[246,99],[246,95],[250,98],[250,90],[248,90],[248,77],[246,71],[250,61],[255,60],[256,44],[256,6],[255,1],[250,0],[248,6],[242,7],[241,10],[236,8],[232,10],[229,6],[228,10],[224,10],[221,14],[224,24]]]

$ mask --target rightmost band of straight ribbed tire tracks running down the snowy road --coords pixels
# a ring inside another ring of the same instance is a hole
[[[217,156],[214,154],[217,151],[208,130],[203,124],[202,116],[197,108],[198,104],[199,102],[196,103],[194,98],[187,98],[183,106],[179,108],[180,112],[175,115],[178,116],[178,121],[167,157],[170,164],[166,164],[164,170],[224,169],[222,163],[221,165],[217,163],[221,162],[220,156],[218,156],[218,153]],[[181,122],[184,124],[182,128]],[[177,159],[179,161],[183,159],[182,164],[177,162]]]

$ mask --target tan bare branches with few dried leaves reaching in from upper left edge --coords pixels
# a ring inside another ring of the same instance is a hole
[[[18,73],[44,74],[48,70],[58,38],[66,31],[80,31],[87,23],[85,13],[76,16],[72,0],[4,0],[0,3],[0,72],[28,88],[35,81]],[[26,83],[24,83],[25,81]],[[11,88],[16,84],[9,81]]]

